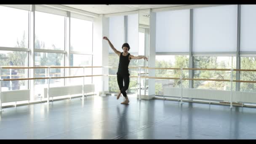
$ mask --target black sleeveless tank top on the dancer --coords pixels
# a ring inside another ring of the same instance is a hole
[[[129,75],[129,70],[128,70],[128,65],[130,63],[129,55],[130,53],[128,53],[127,56],[123,56],[123,52],[120,54],[117,74]]]

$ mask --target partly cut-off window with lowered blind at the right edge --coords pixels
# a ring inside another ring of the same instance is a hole
[[[240,28],[240,65],[241,69],[256,69],[255,36],[256,36],[256,5],[241,5]],[[250,53],[245,56],[243,53]],[[256,80],[256,72],[240,72],[240,80]],[[240,83],[240,91],[256,91],[255,83]]]

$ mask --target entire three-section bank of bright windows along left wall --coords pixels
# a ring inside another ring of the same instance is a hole
[[[35,8],[35,15],[29,11],[31,6]],[[0,6],[0,19],[2,20],[0,23],[0,67],[28,67],[29,65],[63,67],[67,64],[71,67],[92,66],[93,21],[85,20],[91,19],[90,17],[71,14],[72,18],[68,23],[67,11],[44,5],[13,5],[15,8],[10,7],[12,5]],[[29,31],[31,31],[30,36]],[[34,45],[32,45],[34,47],[29,48],[29,43],[32,43],[33,38],[35,38]],[[70,43],[70,51],[67,51],[69,45],[65,43]],[[29,64],[29,61],[33,63]],[[34,77],[61,77],[65,74],[64,68],[51,68],[49,75],[47,69],[30,70],[34,73]],[[1,78],[27,78],[30,70],[2,69]],[[74,68],[66,72],[70,76],[83,75],[83,69]],[[85,68],[85,75],[92,75],[92,68]],[[50,87],[80,82],[82,84],[83,78],[69,80],[71,83],[64,83],[64,78],[51,79]],[[29,80],[3,81],[2,91],[28,89],[28,82]],[[92,77],[85,77],[85,84],[91,84],[91,82]],[[47,88],[48,80],[33,80],[31,86],[34,87],[32,88],[33,97],[44,96],[44,88]]]

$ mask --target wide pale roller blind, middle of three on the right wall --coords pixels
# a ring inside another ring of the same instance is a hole
[[[235,52],[237,5],[195,8],[193,52]]]

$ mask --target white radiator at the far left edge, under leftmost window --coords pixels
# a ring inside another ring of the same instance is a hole
[[[29,100],[29,90],[2,91],[1,102],[26,101]]]

